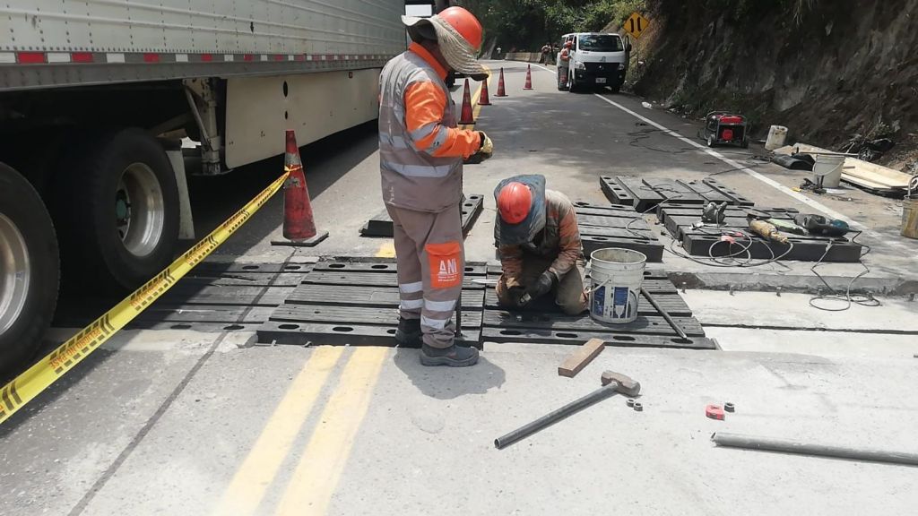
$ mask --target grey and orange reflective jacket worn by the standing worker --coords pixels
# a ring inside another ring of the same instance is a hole
[[[379,170],[383,201],[440,212],[462,197],[462,163],[481,147],[474,130],[456,129],[446,70],[417,43],[379,76]]]

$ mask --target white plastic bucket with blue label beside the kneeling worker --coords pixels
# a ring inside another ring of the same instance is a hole
[[[589,264],[590,317],[611,324],[636,320],[647,256],[643,252],[611,247],[594,251]]]

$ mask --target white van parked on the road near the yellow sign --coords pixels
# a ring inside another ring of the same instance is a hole
[[[628,73],[631,43],[622,41],[618,34],[599,32],[573,32],[565,34],[562,41],[572,42],[568,91],[608,86],[613,92],[619,92]]]

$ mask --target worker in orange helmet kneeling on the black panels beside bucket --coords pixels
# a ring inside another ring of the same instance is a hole
[[[551,292],[565,314],[587,309],[584,256],[570,199],[546,190],[543,175],[505,179],[494,197],[494,237],[503,268],[497,286],[501,306],[521,308]]]

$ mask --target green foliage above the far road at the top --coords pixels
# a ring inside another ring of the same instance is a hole
[[[644,9],[644,0],[460,0],[504,49],[538,50],[566,32],[601,30]]]

